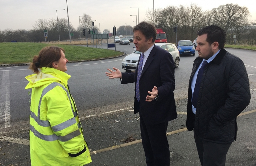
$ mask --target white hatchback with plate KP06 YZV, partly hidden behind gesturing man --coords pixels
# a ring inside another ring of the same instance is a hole
[[[156,46],[159,46],[162,49],[167,50],[169,53],[171,53],[171,56],[173,57],[174,65],[175,67],[178,67],[180,64],[180,52],[177,49],[177,47],[172,43],[155,43]],[[122,69],[126,71],[136,70],[139,55],[141,52],[137,51],[136,48],[134,48],[134,52],[130,55],[127,55],[123,61],[122,61]]]

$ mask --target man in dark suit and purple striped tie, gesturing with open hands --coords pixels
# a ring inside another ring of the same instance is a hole
[[[142,145],[147,166],[169,166],[170,150],[166,137],[168,121],[177,118],[173,91],[174,62],[171,54],[155,46],[156,29],[140,22],[133,29],[136,50],[142,52],[135,73],[108,69],[109,78],[121,84],[135,83],[134,113],[139,112]]]

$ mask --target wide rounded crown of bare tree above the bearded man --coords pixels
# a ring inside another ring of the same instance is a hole
[[[240,19],[246,19],[250,16],[247,7],[237,4],[221,5],[212,9],[213,19],[227,32],[228,29],[236,24]]]

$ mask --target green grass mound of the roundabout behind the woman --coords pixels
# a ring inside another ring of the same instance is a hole
[[[53,44],[45,43],[0,43],[0,64],[29,63],[39,51]],[[120,51],[81,47],[76,45],[61,45],[65,50],[68,61],[98,59],[104,57],[116,57],[122,55]]]

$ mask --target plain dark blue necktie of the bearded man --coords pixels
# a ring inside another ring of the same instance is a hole
[[[192,105],[195,108],[196,108],[196,105],[197,105],[197,100],[198,100],[198,95],[199,95],[199,88],[200,88],[200,84],[201,84],[203,73],[204,73],[204,67],[205,67],[206,64],[208,64],[208,62],[204,61],[201,68],[198,71],[198,74],[197,74],[196,85],[195,85],[193,98],[192,98]]]

